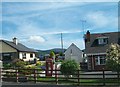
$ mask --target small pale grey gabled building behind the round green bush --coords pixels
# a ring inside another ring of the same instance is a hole
[[[75,60],[77,63],[83,62],[83,52],[74,43],[65,51],[65,60]]]

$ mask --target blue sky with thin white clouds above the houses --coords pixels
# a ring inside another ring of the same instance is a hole
[[[115,0],[114,0],[115,1]],[[118,31],[118,2],[46,1],[0,3],[0,39],[47,50],[72,43],[85,48],[83,35]]]

